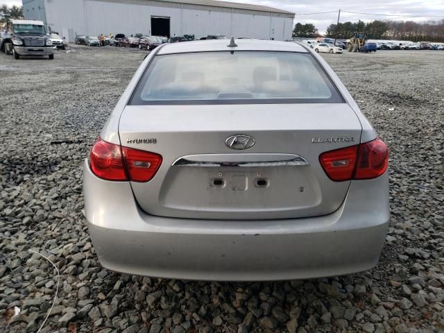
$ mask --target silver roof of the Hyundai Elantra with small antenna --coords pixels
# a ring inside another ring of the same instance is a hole
[[[180,42],[165,44],[159,50],[159,55],[171,53],[207,52],[207,51],[309,51],[296,42],[279,42],[275,40],[234,40],[237,46],[228,46],[230,40],[196,40],[193,42]]]

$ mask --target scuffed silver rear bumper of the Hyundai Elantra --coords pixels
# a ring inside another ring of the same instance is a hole
[[[305,219],[218,221],[151,216],[128,182],[96,178],[85,161],[85,212],[102,266],[189,280],[289,280],[365,271],[388,228],[388,176],[352,182],[343,205]]]

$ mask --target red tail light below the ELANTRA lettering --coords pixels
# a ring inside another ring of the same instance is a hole
[[[387,169],[388,148],[378,137],[365,144],[322,153],[319,161],[327,176],[336,182],[373,179]]]

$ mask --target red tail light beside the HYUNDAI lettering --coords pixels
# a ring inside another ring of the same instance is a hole
[[[91,171],[105,180],[148,182],[162,164],[162,156],[121,147],[98,139],[89,153]]]

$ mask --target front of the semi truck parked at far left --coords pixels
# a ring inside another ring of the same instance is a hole
[[[15,59],[21,56],[48,56],[54,58],[53,43],[46,35],[42,21],[12,19],[11,41]]]

